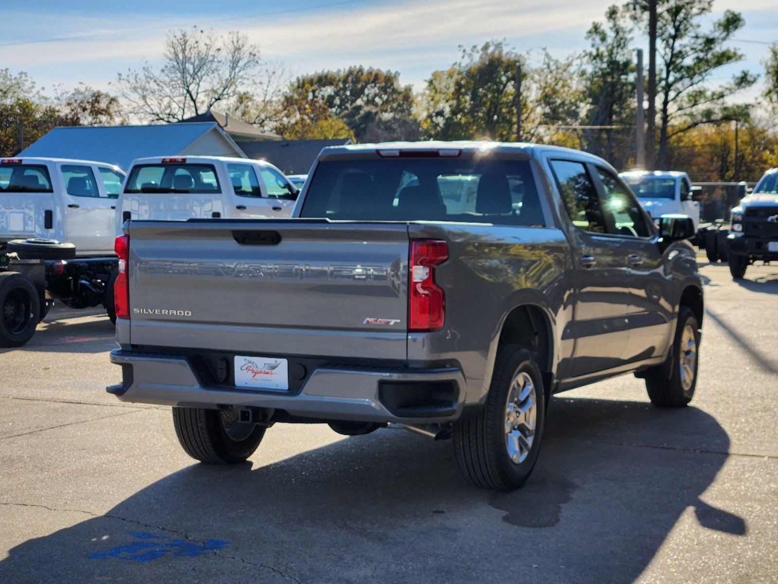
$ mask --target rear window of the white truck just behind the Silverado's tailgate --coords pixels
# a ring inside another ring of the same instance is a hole
[[[132,167],[124,192],[218,193],[212,164],[138,164]]]

